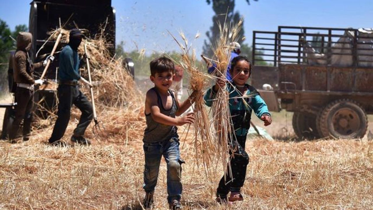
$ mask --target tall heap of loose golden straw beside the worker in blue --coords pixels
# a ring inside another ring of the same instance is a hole
[[[82,30],[85,33],[86,30]],[[57,29],[50,31],[51,40],[55,40],[62,33],[62,41],[68,43],[69,31]],[[143,98],[138,97],[140,91],[128,70],[123,67],[123,60],[109,52],[110,43],[104,35],[104,29],[94,38],[84,38],[79,46],[79,55],[84,55],[84,44],[90,58],[91,77],[96,81],[94,98],[98,120],[105,127],[103,137],[125,135],[126,139],[138,139],[144,129]],[[81,72],[88,78],[87,69]],[[86,95],[89,89],[82,89]],[[78,113],[76,113],[78,114]]]

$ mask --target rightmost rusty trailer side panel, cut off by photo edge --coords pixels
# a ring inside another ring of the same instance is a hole
[[[373,69],[358,68],[355,70],[355,86],[358,92],[373,92]]]

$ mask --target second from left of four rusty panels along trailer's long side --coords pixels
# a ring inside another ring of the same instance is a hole
[[[305,70],[305,90],[326,91],[326,67],[307,66]]]

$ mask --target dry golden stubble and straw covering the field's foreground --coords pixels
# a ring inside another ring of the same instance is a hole
[[[0,142],[0,209],[141,209],[141,139],[118,144],[54,148],[38,136],[17,145]],[[247,142],[245,200],[213,200],[221,173],[209,182],[196,170],[194,145],[181,148],[184,209],[372,209],[373,142],[322,140]],[[162,161],[156,209],[167,209]]]

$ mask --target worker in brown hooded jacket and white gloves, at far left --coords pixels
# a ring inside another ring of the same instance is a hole
[[[9,132],[9,140],[16,143],[19,125],[23,119],[23,140],[29,139],[32,121],[32,105],[34,86],[43,84],[43,80],[34,80],[34,68],[47,65],[48,59],[53,61],[53,56],[48,56],[44,61],[33,64],[28,51],[31,49],[32,34],[19,32],[17,35],[17,49],[13,56],[13,78],[16,84],[15,102],[16,116]]]

